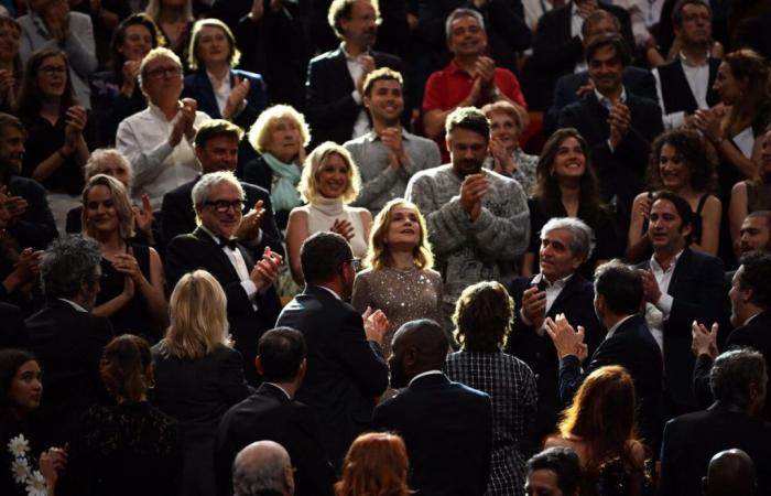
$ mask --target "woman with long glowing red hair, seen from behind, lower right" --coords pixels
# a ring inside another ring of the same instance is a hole
[[[637,496],[647,485],[645,450],[634,425],[634,382],[619,365],[589,374],[544,448],[566,446],[584,466],[582,496]]]

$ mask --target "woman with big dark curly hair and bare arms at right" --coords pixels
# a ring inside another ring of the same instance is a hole
[[[694,129],[673,129],[653,141],[647,171],[649,191],[637,195],[632,203],[627,261],[637,263],[653,252],[648,238],[648,215],[653,195],[659,191],[674,193],[691,205],[693,242],[689,248],[717,255],[723,205],[714,194],[716,168],[715,149]]]

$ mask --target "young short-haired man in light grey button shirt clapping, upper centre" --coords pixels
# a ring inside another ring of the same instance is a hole
[[[432,140],[406,132],[400,119],[404,111],[402,75],[388,67],[365,79],[365,107],[372,130],[345,143],[361,174],[361,191],[355,205],[372,216],[390,200],[404,196],[410,177],[439,165],[439,148]]]

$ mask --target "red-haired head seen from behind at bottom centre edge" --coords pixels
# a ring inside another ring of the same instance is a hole
[[[409,496],[410,461],[404,441],[397,434],[361,434],[343,461],[343,477],[335,496]]]

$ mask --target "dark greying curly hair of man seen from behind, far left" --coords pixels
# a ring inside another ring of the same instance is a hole
[[[43,252],[40,280],[47,298],[72,299],[84,283],[93,287],[101,277],[101,246],[80,235],[61,237]]]

